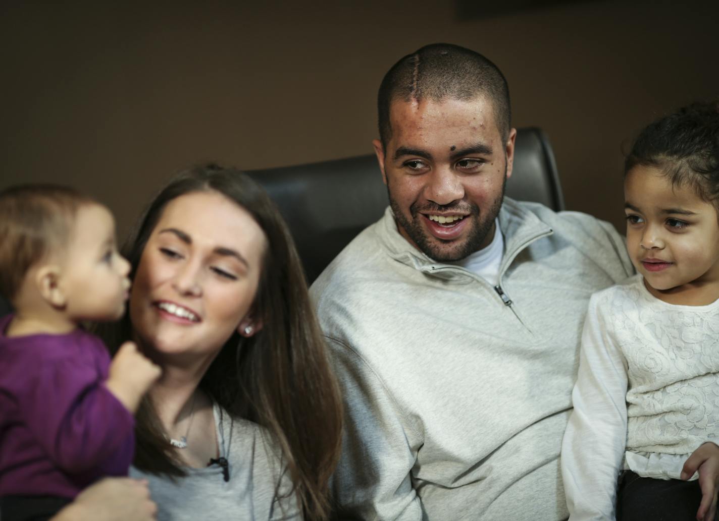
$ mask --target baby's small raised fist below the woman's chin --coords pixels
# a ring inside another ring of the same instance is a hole
[[[105,385],[134,414],[142,395],[160,378],[161,373],[159,366],[137,351],[134,342],[125,342],[112,359]]]

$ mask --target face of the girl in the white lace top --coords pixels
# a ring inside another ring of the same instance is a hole
[[[624,198],[629,256],[647,289],[667,301],[681,292],[701,295],[701,300],[719,298],[715,207],[651,167],[628,172]]]

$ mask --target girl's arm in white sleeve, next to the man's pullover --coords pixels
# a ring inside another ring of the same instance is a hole
[[[562,443],[562,480],[572,521],[615,519],[617,479],[626,448],[626,366],[597,308],[595,295],[582,333],[574,411]]]

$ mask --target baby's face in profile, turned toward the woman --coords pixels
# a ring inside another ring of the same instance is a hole
[[[107,208],[82,206],[63,256],[60,285],[70,320],[114,321],[124,313],[130,265],[117,252],[115,221]]]

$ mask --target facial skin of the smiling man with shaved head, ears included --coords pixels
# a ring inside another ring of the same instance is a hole
[[[391,137],[375,139],[398,231],[432,259],[451,262],[484,248],[495,233],[516,130],[503,142],[490,101],[393,101]],[[438,223],[430,216],[456,217]]]

